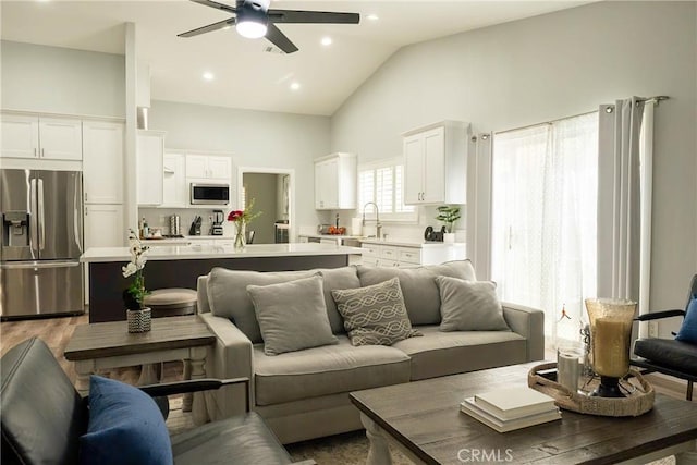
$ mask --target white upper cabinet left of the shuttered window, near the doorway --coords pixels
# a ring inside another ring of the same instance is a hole
[[[353,154],[331,154],[315,160],[315,208],[356,208],[357,170],[357,157]]]

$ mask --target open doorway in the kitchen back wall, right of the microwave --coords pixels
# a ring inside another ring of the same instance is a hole
[[[254,244],[294,242],[294,170],[273,168],[237,169],[237,205],[246,208],[254,199],[253,212],[261,211],[248,225]],[[286,232],[279,237],[279,231]]]

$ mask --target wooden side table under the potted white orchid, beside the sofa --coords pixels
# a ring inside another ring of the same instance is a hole
[[[130,333],[126,321],[111,321],[76,327],[64,356],[75,363],[77,390],[85,394],[89,376],[100,369],[184,360],[191,363],[192,379],[204,378],[206,351],[215,341],[196,315],[155,318],[152,329],[143,333]],[[200,395],[196,393],[193,402],[199,402]],[[203,419],[194,417],[194,421]]]

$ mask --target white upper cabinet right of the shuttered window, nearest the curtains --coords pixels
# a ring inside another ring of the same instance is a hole
[[[465,204],[469,124],[443,121],[403,134],[404,203]]]

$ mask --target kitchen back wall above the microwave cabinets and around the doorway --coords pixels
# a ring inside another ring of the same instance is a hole
[[[149,122],[150,129],[167,131],[167,148],[232,152],[235,170],[295,169],[296,223],[321,222],[315,210],[313,160],[329,154],[329,118],[156,100]]]

